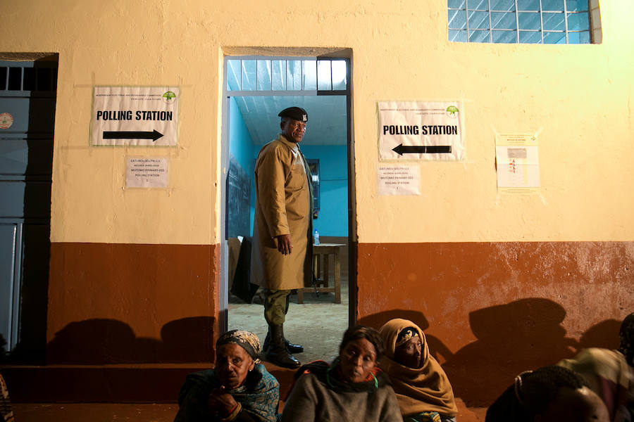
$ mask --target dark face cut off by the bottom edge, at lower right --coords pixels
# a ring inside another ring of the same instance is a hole
[[[590,388],[561,388],[535,422],[609,422],[603,400]]]

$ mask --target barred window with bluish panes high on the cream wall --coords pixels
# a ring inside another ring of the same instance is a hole
[[[588,0],[447,0],[449,41],[590,44],[590,12]]]

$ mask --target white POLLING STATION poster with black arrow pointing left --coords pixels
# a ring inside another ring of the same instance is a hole
[[[381,160],[464,158],[459,101],[380,101],[378,121]]]

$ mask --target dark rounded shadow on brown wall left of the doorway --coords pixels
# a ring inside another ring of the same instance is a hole
[[[115,319],[71,322],[46,348],[48,364],[147,364],[213,362],[211,316],[170,321],[161,340],[138,338],[132,328]]]

